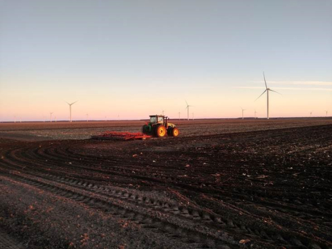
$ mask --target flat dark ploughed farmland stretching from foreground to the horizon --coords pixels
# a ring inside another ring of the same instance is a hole
[[[332,248],[331,119],[170,122],[132,141],[89,138],[144,121],[0,124],[6,243]]]

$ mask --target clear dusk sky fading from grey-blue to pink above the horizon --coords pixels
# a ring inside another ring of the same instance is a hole
[[[0,121],[332,116],[332,1],[0,0]],[[256,101],[255,101],[256,100]]]

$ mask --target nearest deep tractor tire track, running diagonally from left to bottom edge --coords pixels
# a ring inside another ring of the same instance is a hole
[[[163,232],[168,237],[187,238],[187,243],[194,243],[197,247],[238,248],[238,242],[227,232],[208,230],[204,228],[203,225],[193,225],[190,221],[185,221],[185,219],[178,219],[176,216],[167,215],[152,208],[144,208],[142,205],[137,205],[140,203],[140,199],[133,199],[133,196],[130,198],[133,201],[136,200],[136,205],[132,205],[128,201],[124,202],[127,196],[126,194],[122,194],[122,192],[100,194],[100,191],[93,192],[87,190],[88,187],[92,187],[91,190],[98,189],[98,187],[91,184],[84,186],[85,184],[82,183],[83,189],[80,190],[77,187],[73,187],[73,185],[68,186],[55,181],[24,174],[12,173],[6,174],[4,177],[9,177],[15,181],[46,190],[58,196],[66,197],[72,201],[84,203],[90,208],[109,212],[121,217],[121,219],[129,219],[140,224],[142,228],[150,229],[154,232]],[[99,190],[101,189],[99,188]],[[120,198],[116,198],[113,194],[116,194]],[[151,203],[150,199],[147,198],[142,199],[142,201],[148,202],[155,207],[158,206],[158,209],[164,208],[164,210],[170,210],[169,207],[167,208],[167,203],[160,203],[158,201]],[[174,212],[178,212],[178,208],[175,206],[173,206],[173,210]],[[181,210],[181,213],[185,215],[186,212],[185,210]]]

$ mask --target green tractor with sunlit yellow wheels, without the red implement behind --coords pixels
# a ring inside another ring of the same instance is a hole
[[[142,127],[142,133],[163,138],[168,136],[178,136],[179,131],[175,124],[167,122],[168,117],[163,115],[151,115],[149,122]]]

